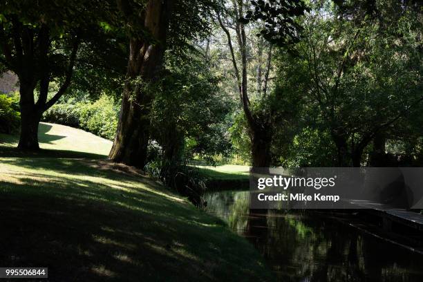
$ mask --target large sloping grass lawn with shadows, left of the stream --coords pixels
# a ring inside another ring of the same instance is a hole
[[[41,147],[59,151],[0,145],[0,266],[48,267],[49,281],[271,280],[218,218],[131,167],[87,158],[105,157],[109,141],[46,126]]]

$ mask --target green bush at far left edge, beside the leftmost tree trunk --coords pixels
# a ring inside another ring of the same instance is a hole
[[[19,129],[21,115],[19,109],[19,99],[16,96],[9,97],[0,94],[0,133],[14,133]]]

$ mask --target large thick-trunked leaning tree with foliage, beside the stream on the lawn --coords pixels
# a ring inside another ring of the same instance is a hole
[[[118,131],[109,158],[143,167],[150,138],[154,85],[163,77],[164,53],[183,56],[189,41],[208,30],[209,0],[118,0],[128,27],[129,61]],[[120,23],[121,21],[118,21]]]

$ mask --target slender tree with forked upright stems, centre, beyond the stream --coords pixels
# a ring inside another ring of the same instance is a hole
[[[252,5],[252,6],[251,6]],[[261,35],[271,43],[291,44],[297,41],[299,25],[295,22],[295,17],[303,15],[306,6],[302,1],[249,1],[231,0],[223,2],[222,8],[216,11],[216,18],[220,28],[227,37],[227,46],[232,58],[232,64],[238,93],[243,107],[243,112],[247,120],[248,131],[251,140],[252,165],[253,167],[269,167],[271,162],[270,145],[272,142],[272,120],[273,111],[253,111],[247,77],[247,58],[249,57],[246,24],[251,21],[264,22],[261,28]],[[274,17],[269,17],[263,21],[262,15],[269,12]],[[279,28],[279,34],[269,35],[266,30],[272,25]],[[236,38],[236,44],[234,39]],[[272,40],[270,40],[272,39]],[[261,52],[261,48],[259,48]],[[240,59],[237,59],[239,54]],[[257,80],[257,90],[261,97],[265,98],[267,82],[272,62],[272,49],[267,48],[267,64],[264,72],[263,88],[261,88],[261,78]],[[261,76],[261,68],[258,68]],[[259,76],[259,73],[257,74]],[[263,89],[263,93],[262,93]],[[270,108],[274,109],[274,108]]]

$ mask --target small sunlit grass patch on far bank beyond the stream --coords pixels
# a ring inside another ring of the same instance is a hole
[[[198,166],[198,169],[207,178],[215,180],[248,180],[250,174],[250,167],[245,165]]]

